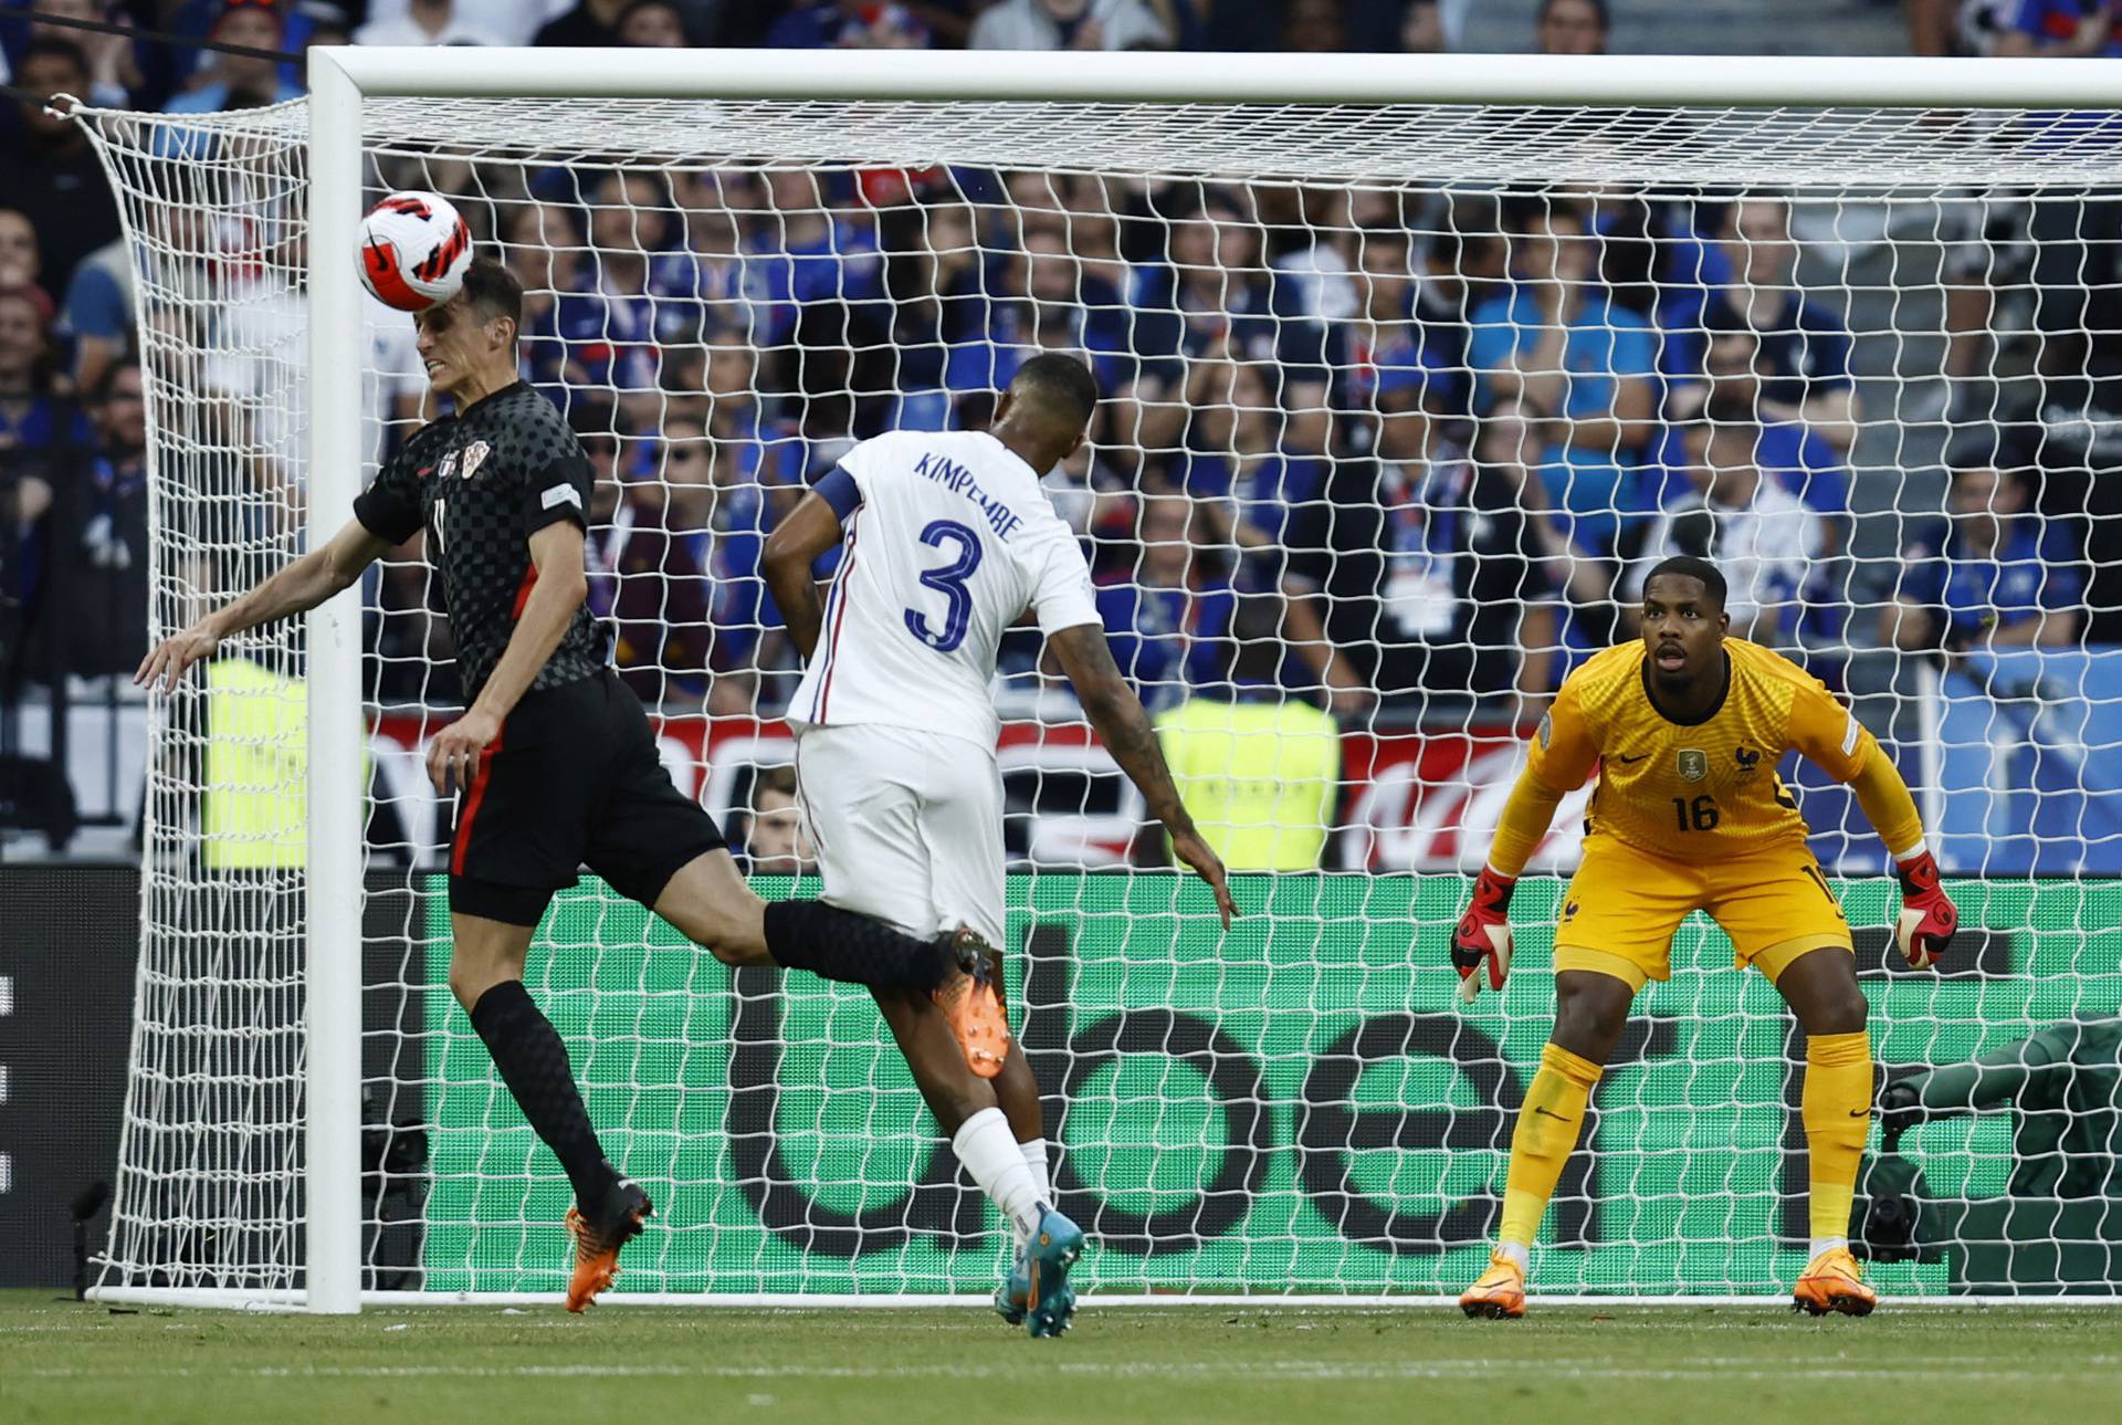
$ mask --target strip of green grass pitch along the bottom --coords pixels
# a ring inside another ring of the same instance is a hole
[[[1328,1421],[2105,1419],[2118,1308],[1886,1304],[1456,1310],[1108,1308],[1036,1342],[921,1310],[138,1310],[0,1293],[0,1421]],[[2092,1410],[2092,1414],[2086,1414]]]

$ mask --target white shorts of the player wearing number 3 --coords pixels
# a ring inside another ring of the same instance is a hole
[[[804,726],[796,796],[828,905],[921,937],[972,926],[1004,945],[993,750],[870,722]]]

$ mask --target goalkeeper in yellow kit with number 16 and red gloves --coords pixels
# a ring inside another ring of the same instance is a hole
[[[1806,849],[1806,822],[1776,775],[1797,750],[1850,784],[1901,871],[1895,939],[1935,964],[1959,915],[1923,847],[1916,803],[1857,718],[1795,663],[1727,639],[1725,580],[1679,556],[1642,584],[1642,643],[1608,648],[1562,682],[1496,826],[1473,905],[1451,937],[1460,994],[1511,968],[1511,888],[1562,796],[1598,767],[1583,862],[1555,928],[1555,1030],[1511,1134],[1500,1242],[1460,1298],[1468,1317],[1526,1315],[1526,1257],[1577,1147],[1606,1055],[1647,979],[1670,977],[1672,932],[1706,911],[1740,966],[1768,975],[1806,1030],[1799,1115],[1812,1162],[1812,1253],[1797,1306],[1863,1317],[1878,1293],[1848,1249],[1850,1202],[1872,1126],[1872,1041],[1850,928]]]

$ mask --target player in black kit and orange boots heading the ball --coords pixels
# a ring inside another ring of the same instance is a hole
[[[567,418],[516,374],[522,287],[475,259],[465,289],[416,319],[435,395],[456,410],[422,427],[331,544],[166,639],[136,682],[170,686],[223,639],[316,607],[418,531],[441,573],[469,707],[435,735],[435,790],[460,792],[450,839],[450,990],[471,1015],[530,1128],[567,1168],[584,1310],[618,1274],[620,1247],[654,1211],[596,1143],[567,1045],[524,992],[530,932],[552,892],[588,864],[724,964],[779,964],[921,996],[946,1038],[1008,1034],[987,947],[921,941],[815,900],[766,905],[721,832],[656,756],[641,703],[607,667],[584,603],[590,461]],[[352,775],[348,771],[348,775]]]

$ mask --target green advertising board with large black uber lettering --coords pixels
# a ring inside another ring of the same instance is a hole
[[[1504,994],[1458,1005],[1458,875],[1243,877],[1216,924],[1176,875],[1010,879],[1010,1002],[1059,1138],[1061,1206],[1106,1291],[1456,1291],[1485,1261],[1511,1117],[1551,1017],[1562,881],[1513,900]],[[762,894],[815,894],[785,879]],[[1946,975],[1891,971],[1895,888],[1838,886],[1889,1066],[1952,1064],[2122,1011],[2122,883],[1961,881]],[[1600,1083],[1536,1255],[1543,1291],[1772,1293],[1804,1264],[1789,1015],[1700,915]],[[427,1287],[558,1291],[569,1206],[446,990],[429,896]],[[985,1293],[1008,1234],[862,990],[728,971],[584,883],[526,975],[567,1036],[607,1151],[658,1202],[620,1291]],[[1065,1115],[1063,1115],[1065,1104]],[[1874,1132],[1876,1138],[1876,1132]],[[1995,1198],[2010,1115],[1918,1128],[1929,1189]],[[1948,1291],[1948,1264],[1878,1266]]]

